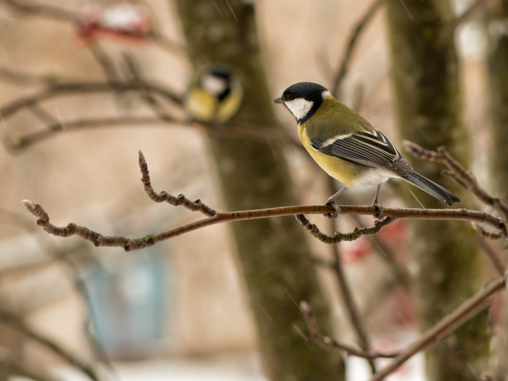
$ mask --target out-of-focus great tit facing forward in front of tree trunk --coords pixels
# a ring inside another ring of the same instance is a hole
[[[238,111],[242,98],[242,86],[231,68],[213,63],[194,76],[183,107],[194,120],[224,123]]]

